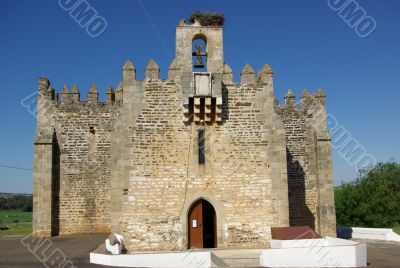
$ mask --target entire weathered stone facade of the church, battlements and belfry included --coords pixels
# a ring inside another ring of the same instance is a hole
[[[197,38],[207,41],[206,97],[196,95],[191,67]],[[269,65],[257,76],[246,65],[233,82],[222,27],[181,23],[176,45],[167,80],[154,60],[144,80],[127,61],[104,103],[95,85],[81,101],[77,86],[59,98],[39,79],[34,234],[114,231],[130,251],[183,249],[189,210],[204,199],[216,212],[218,248],[268,246],[274,226],[334,235],[322,91],[303,94],[300,105],[289,93],[279,106]]]

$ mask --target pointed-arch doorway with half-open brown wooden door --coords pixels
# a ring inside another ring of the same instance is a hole
[[[210,202],[199,199],[188,213],[189,248],[215,248],[217,245],[217,217]]]

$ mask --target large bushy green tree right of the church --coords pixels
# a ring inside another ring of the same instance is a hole
[[[338,226],[392,227],[400,223],[400,164],[379,163],[335,189]]]

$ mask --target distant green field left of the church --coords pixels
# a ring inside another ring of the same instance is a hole
[[[0,211],[0,236],[32,233],[32,212]]]

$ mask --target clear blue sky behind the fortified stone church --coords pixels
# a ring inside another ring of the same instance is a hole
[[[192,11],[226,17],[225,61],[239,80],[249,63],[269,63],[280,101],[290,88],[324,88],[328,111],[377,161],[399,161],[400,1],[359,0],[376,21],[360,38],[326,0],[279,1],[106,1],[88,0],[107,21],[91,38],[57,0],[0,2],[0,165],[32,168],[35,118],[20,104],[50,79],[58,91],[77,83],[81,94],[96,83],[116,86],[131,59],[143,77],[154,58],[165,78],[175,51],[175,26]],[[142,4],[141,4],[142,3]],[[354,179],[354,166],[334,151],[335,183]],[[0,192],[32,192],[32,172],[0,166]]]

